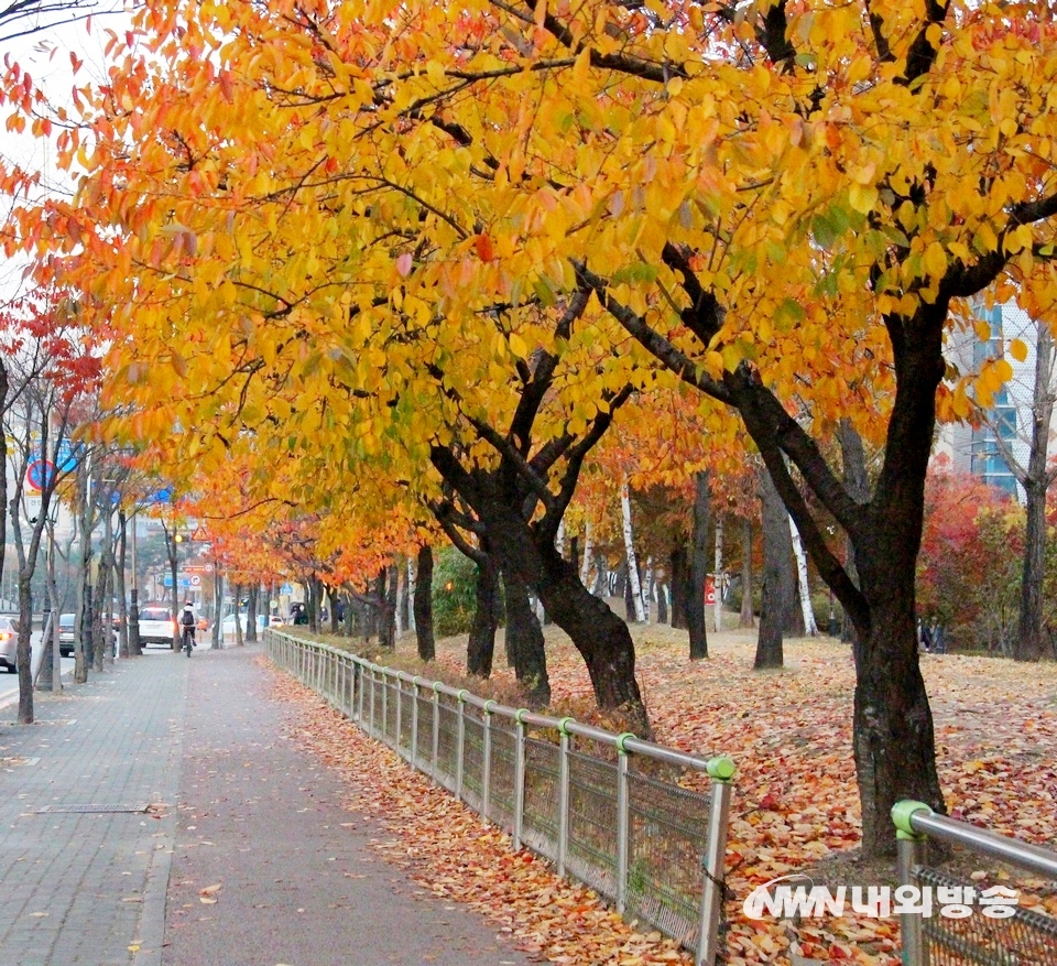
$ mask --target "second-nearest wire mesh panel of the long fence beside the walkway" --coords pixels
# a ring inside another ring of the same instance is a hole
[[[570,752],[565,865],[610,900],[617,898],[617,766]]]

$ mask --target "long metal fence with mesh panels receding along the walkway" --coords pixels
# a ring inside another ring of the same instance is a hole
[[[631,734],[484,701],[269,629],[271,660],[371,737],[510,833],[712,966],[734,767]],[[693,769],[707,794],[675,781]]]

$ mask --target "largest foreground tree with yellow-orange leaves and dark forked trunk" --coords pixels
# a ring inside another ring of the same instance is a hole
[[[296,388],[270,413],[287,438],[402,439],[554,589],[524,528],[553,536],[564,477],[523,476],[552,515],[517,521],[473,476],[489,446],[513,478],[516,445],[459,441],[462,463],[451,420],[408,413],[455,393],[480,419],[536,345],[565,357],[525,306],[553,322],[591,292],[609,318],[567,340],[593,350],[566,381],[581,432],[642,372],[615,322],[743,420],[856,627],[865,853],[891,850],[896,799],[942,808],[914,637],[924,481],[937,405],[969,411],[944,382],[951,306],[1014,283],[1051,301],[1044,4],[173,3],[139,25],[153,58],[115,39],[110,87],[84,95],[90,156],[59,135],[91,169],[78,206],[19,231],[69,256],[86,305],[119,306],[126,394],[192,373],[142,431],[178,413],[218,460],[218,416],[257,425]],[[842,419],[883,446],[867,500],[826,458]]]

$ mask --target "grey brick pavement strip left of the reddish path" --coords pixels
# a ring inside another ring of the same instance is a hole
[[[156,651],[36,694],[33,725],[3,709],[0,966],[110,966],[160,946],[188,663]],[[155,807],[42,811],[89,805]]]

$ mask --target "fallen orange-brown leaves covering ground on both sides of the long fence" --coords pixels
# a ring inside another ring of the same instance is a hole
[[[795,957],[895,966],[896,916],[870,919],[846,911],[839,919],[794,925],[753,921],[742,912],[755,886],[792,872],[807,872],[819,884],[894,884],[887,864],[854,860],[861,820],[851,753],[850,648],[830,638],[787,641],[786,666],[760,673],[752,670],[751,631],[710,634],[710,656],[699,662],[687,658],[685,632],[657,625],[632,627],[632,632],[656,740],[702,758],[730,755],[738,766],[727,854],[727,963],[789,963]],[[546,637],[551,713],[589,719],[591,688],[582,660],[556,628],[547,627]],[[465,644],[465,636],[438,642],[433,673],[458,680]],[[501,636],[495,652],[499,665]],[[1057,836],[1051,755],[1057,747],[1057,667],[1032,665],[1028,673],[1012,661],[957,654],[925,654],[922,663],[950,814],[1051,844]],[[431,671],[417,673],[428,676]],[[392,838],[378,843],[378,850],[411,869],[432,894],[469,902],[521,949],[549,962],[693,962],[660,934],[623,923],[590,889],[559,879],[543,859],[514,853],[505,833],[414,772],[313,692],[285,675],[275,681],[277,695],[298,709],[301,742],[344,774],[353,790],[355,811],[385,824]],[[509,690],[511,672],[499,667],[488,686]],[[688,774],[685,783],[704,790],[708,781]],[[982,859],[979,865],[991,870],[988,883],[1010,883],[1007,870],[994,871]],[[1022,904],[1057,914],[1057,890],[1023,877],[1013,884],[1028,890]]]

